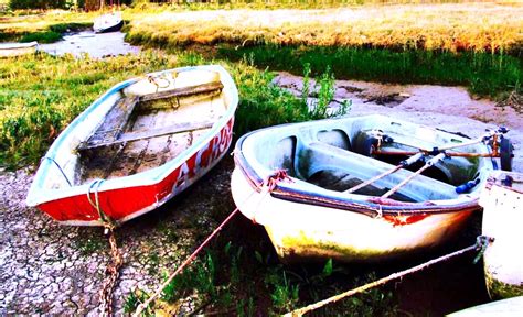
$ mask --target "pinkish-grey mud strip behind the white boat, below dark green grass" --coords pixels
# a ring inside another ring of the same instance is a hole
[[[280,73],[274,83],[299,96],[302,78]],[[375,83],[337,80],[335,100],[351,100],[348,116],[381,113],[402,120],[461,132],[470,138],[482,135],[485,129],[503,125],[514,144],[513,170],[523,172],[523,113],[495,102],[472,99],[465,88],[430,85],[381,85]],[[338,107],[338,102],[331,107]]]

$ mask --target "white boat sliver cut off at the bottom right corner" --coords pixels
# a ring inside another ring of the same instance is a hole
[[[447,315],[449,317],[520,317],[523,316],[523,296],[478,305]]]

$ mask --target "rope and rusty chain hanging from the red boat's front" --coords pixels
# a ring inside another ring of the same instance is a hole
[[[104,183],[104,179],[100,178],[90,183],[87,189],[87,200],[98,212],[99,220],[105,228],[104,233],[109,236],[111,263],[107,265],[105,270],[106,277],[99,291],[99,310],[102,316],[113,316],[113,291],[115,289],[116,282],[118,281],[120,269],[124,264],[124,259],[120,251],[118,250],[118,244],[116,243],[115,229],[117,228],[117,222],[107,216],[100,207],[98,192],[102,183]],[[93,189],[94,193],[92,192]],[[94,200],[90,198],[90,194],[95,195]]]

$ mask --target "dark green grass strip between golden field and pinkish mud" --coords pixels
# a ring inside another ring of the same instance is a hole
[[[297,75],[310,65],[311,75],[330,68],[338,79],[462,85],[479,96],[495,97],[523,81],[521,58],[487,53],[274,45],[220,45],[217,50],[218,58],[242,61],[244,56],[258,67]]]

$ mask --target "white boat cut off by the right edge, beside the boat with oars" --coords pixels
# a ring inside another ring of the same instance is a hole
[[[483,207],[482,233],[494,238],[483,255],[489,294],[492,298],[522,296],[523,174],[492,173],[479,204]]]

